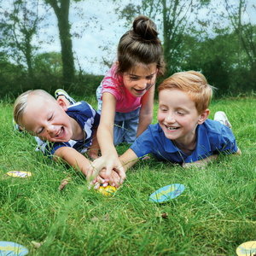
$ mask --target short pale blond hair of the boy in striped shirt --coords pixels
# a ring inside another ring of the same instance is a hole
[[[25,113],[27,102],[30,96],[40,96],[44,99],[55,100],[55,98],[45,90],[26,90],[26,92],[23,92],[20,96],[16,98],[14,105],[14,119],[18,125],[22,125],[21,120],[23,114]]]

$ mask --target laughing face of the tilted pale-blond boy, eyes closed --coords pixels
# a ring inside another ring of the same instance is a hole
[[[21,123],[26,131],[49,142],[67,142],[73,137],[72,124],[65,108],[44,96],[28,97]]]

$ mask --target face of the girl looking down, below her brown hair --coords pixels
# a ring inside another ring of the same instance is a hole
[[[157,74],[156,64],[137,65],[131,71],[124,73],[125,88],[133,96],[141,97],[155,83]]]

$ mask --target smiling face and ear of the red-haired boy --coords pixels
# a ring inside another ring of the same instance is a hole
[[[165,136],[177,144],[189,146],[195,142],[196,126],[207,119],[208,113],[208,109],[198,113],[195,102],[182,90],[160,90],[157,119]]]

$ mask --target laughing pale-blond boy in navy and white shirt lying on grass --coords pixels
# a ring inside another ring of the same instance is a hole
[[[28,90],[15,101],[14,119],[21,131],[25,129],[49,142],[39,147],[44,154],[65,160],[88,179],[90,160],[82,153],[90,148],[90,157],[98,154],[96,129],[100,115],[86,102],[72,103],[65,95],[55,100],[44,90]]]

